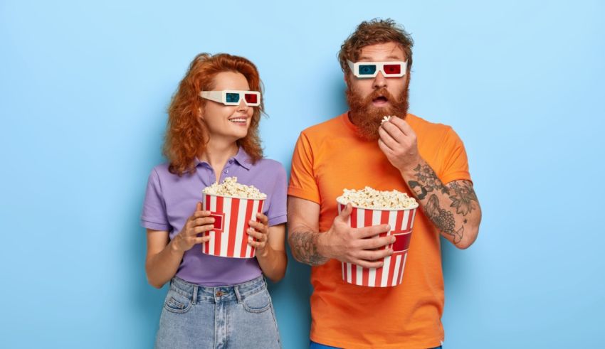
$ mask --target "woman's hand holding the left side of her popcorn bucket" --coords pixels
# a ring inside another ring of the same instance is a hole
[[[210,211],[201,210],[201,203],[197,203],[196,210],[187,219],[183,230],[172,240],[172,246],[178,252],[189,251],[194,245],[210,240],[210,236],[199,236],[203,232],[214,229],[214,218],[210,217]]]

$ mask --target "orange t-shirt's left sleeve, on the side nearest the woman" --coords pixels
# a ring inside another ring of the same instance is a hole
[[[313,151],[309,139],[301,133],[296,141],[290,171],[288,195],[320,203],[320,193],[313,171]]]

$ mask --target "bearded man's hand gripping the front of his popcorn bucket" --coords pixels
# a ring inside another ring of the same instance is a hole
[[[394,236],[375,237],[391,230],[389,225],[352,228],[347,220],[352,213],[349,203],[334,219],[330,230],[320,234],[317,248],[324,257],[354,263],[365,268],[382,267],[382,259],[393,254],[392,249],[378,249],[395,242]]]

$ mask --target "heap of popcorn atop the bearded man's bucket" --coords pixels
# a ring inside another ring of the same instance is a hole
[[[354,207],[374,210],[409,210],[418,207],[416,199],[398,190],[379,191],[365,187],[362,190],[344,189],[343,192],[336,198],[337,202],[343,205],[351,203]]]

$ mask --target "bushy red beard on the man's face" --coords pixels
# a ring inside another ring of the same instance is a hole
[[[357,127],[357,134],[362,139],[368,141],[377,141],[379,139],[378,128],[383,117],[391,115],[406,118],[409,107],[409,88],[404,88],[404,93],[399,99],[393,97],[386,87],[374,90],[372,95],[366,98],[347,88],[347,102],[349,102],[349,119]],[[372,101],[378,97],[386,97],[391,104],[389,107],[377,108],[372,105]]]

